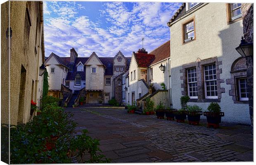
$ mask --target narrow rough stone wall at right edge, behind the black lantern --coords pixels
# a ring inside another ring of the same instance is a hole
[[[243,32],[244,40],[246,42],[254,42],[254,4],[243,3],[242,4],[242,19],[243,19]],[[248,84],[248,97],[249,97],[249,112],[251,117],[251,132],[253,133],[253,54],[251,57],[246,58],[247,63],[247,84]]]

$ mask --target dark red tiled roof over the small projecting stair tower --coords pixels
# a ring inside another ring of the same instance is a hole
[[[147,53],[134,53],[134,57],[136,59],[136,62],[138,64],[138,67],[148,67],[152,61],[155,59],[155,56],[153,54],[147,54]]]

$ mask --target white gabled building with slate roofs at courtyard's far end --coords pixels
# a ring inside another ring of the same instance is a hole
[[[90,57],[78,57],[74,48],[70,49],[70,57],[51,53],[45,61],[49,72],[49,95],[63,99],[62,103],[69,93],[73,93],[74,99],[83,96],[89,104],[108,103],[112,97],[121,104],[121,75],[129,65],[129,59],[121,51],[114,58],[98,57],[95,52]],[[82,94],[81,90],[85,92]]]

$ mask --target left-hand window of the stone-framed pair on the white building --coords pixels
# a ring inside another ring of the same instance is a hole
[[[187,93],[190,98],[197,98],[197,70],[196,68],[187,70]]]

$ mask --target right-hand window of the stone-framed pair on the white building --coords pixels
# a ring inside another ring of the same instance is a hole
[[[204,66],[205,98],[218,98],[215,64]]]

